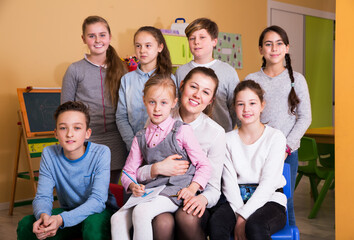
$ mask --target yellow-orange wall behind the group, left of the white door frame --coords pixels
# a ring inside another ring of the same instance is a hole
[[[19,108],[16,88],[61,86],[66,68],[83,57],[81,24],[101,15],[112,30],[112,45],[122,57],[133,54],[132,36],[143,25],[170,28],[177,17],[216,21],[220,31],[242,34],[244,69],[240,78],[258,71],[259,33],[267,24],[266,0],[61,0],[0,1],[0,203],[8,202],[16,145]],[[246,24],[247,22],[247,24]],[[23,159],[21,159],[23,163]],[[21,164],[21,169],[26,167]],[[27,181],[18,184],[17,198],[31,197]]]

